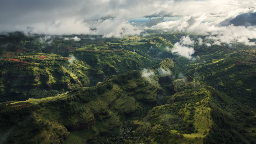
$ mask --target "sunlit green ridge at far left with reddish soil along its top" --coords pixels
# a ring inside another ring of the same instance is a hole
[[[0,59],[0,102],[48,97],[101,80],[104,73],[85,62],[55,54],[6,55]],[[95,81],[95,80],[94,80]],[[31,91],[31,89],[33,89]]]

